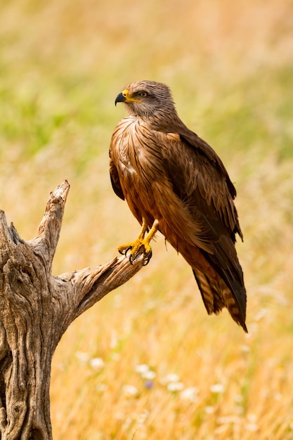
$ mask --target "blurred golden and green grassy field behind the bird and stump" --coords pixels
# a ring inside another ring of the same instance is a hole
[[[108,148],[138,79],[168,84],[237,188],[247,327],[207,316],[162,236],[53,358],[56,440],[293,439],[293,3],[11,0],[0,15],[0,208],[25,240],[71,189],[56,274],[104,264],[139,225]]]

